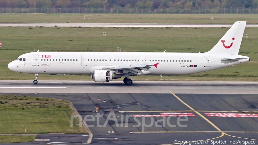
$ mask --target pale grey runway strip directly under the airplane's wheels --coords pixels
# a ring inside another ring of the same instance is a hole
[[[132,78],[133,79],[133,78]],[[258,82],[216,81],[94,81],[0,80],[1,93],[173,93],[178,94],[258,94]]]

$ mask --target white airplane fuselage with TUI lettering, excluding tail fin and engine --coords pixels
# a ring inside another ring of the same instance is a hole
[[[19,73],[30,74],[93,74],[104,67],[153,65],[149,75],[186,75],[233,66],[249,61],[249,57],[231,54],[169,52],[30,52],[8,64]],[[224,58],[243,58],[226,62]],[[141,74],[139,74],[141,75]]]

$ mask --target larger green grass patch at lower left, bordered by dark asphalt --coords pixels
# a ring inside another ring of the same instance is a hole
[[[70,115],[75,112],[65,100],[0,95],[0,114],[0,133],[87,133],[84,127],[79,127],[79,119],[74,119],[70,127]]]

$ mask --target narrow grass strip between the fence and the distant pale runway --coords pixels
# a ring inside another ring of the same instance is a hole
[[[83,16],[86,19],[83,19]],[[87,19],[90,17],[91,19]],[[214,19],[211,20],[210,17]],[[19,23],[258,23],[258,14],[1,13],[0,22]]]

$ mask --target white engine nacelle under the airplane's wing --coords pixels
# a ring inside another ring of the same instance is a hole
[[[91,75],[91,79],[94,79],[95,82],[110,82],[118,78],[121,78],[121,75],[110,70],[94,70],[93,75]]]

